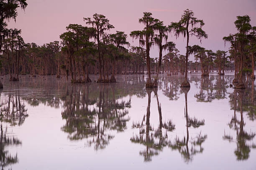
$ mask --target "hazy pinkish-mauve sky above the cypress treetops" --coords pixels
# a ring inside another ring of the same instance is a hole
[[[203,30],[207,39],[200,43],[192,37],[189,45],[200,45],[207,50],[228,50],[222,38],[230,33],[236,33],[234,21],[238,15],[249,15],[251,25],[256,26],[256,0],[27,0],[24,10],[18,9],[16,22],[10,20],[8,28],[21,29],[25,42],[35,42],[38,45],[59,40],[59,35],[66,31],[69,24],[86,26],[83,18],[94,13],[103,14],[114,25],[108,31],[124,31],[131,45],[138,46],[138,40],[133,40],[129,34],[133,30],[142,30],[143,24],[138,18],[143,12],[151,12],[154,18],[169,25],[180,20],[183,11],[193,10],[195,17],[202,19]],[[168,41],[176,43],[180,54],[185,55],[186,39],[169,34]],[[165,53],[165,52],[164,52]],[[159,50],[151,49],[150,57],[158,57]],[[193,57],[189,58],[193,60]]]

